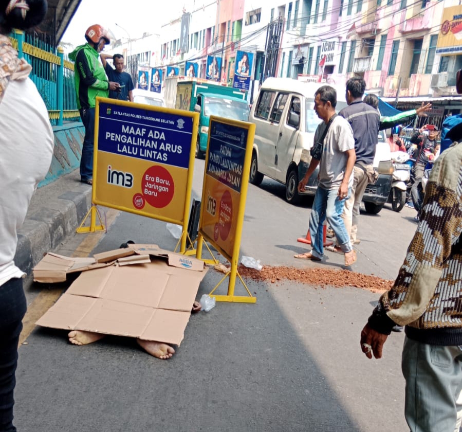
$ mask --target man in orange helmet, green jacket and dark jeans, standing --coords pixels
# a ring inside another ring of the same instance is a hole
[[[88,27],[85,39],[87,43],[73,50],[69,58],[75,62],[77,106],[85,127],[80,160],[80,181],[92,185],[96,97],[107,98],[110,90],[120,89],[120,84],[108,81],[104,67],[99,61],[99,53],[104,49],[104,45],[110,43],[106,30],[99,24],[94,24]]]

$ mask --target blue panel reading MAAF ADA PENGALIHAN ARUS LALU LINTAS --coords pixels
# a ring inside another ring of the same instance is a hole
[[[189,167],[193,119],[100,102],[98,151]]]

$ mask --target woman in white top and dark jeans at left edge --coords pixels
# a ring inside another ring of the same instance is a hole
[[[15,432],[13,390],[17,344],[26,313],[22,278],[14,265],[17,229],[53,155],[46,106],[7,35],[45,16],[45,0],[0,0],[0,432]]]

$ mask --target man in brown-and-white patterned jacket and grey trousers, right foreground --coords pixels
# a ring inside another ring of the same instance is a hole
[[[460,141],[460,140],[459,140]],[[456,429],[462,390],[462,142],[435,161],[398,277],[361,332],[368,358],[405,326],[405,417],[413,432]]]

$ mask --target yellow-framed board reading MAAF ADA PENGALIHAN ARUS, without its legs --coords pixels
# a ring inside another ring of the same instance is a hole
[[[95,127],[93,202],[183,224],[198,114],[97,98]]]

